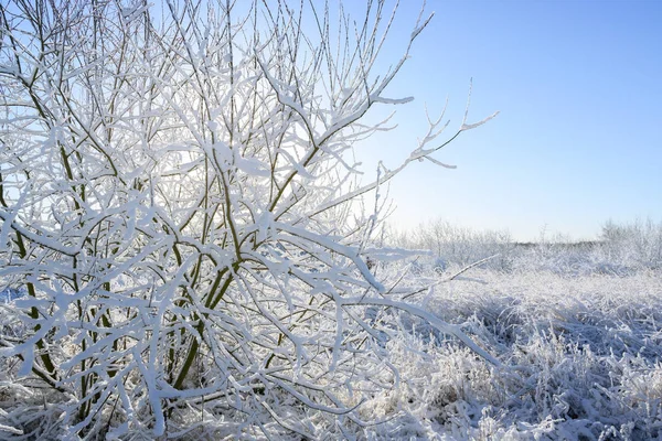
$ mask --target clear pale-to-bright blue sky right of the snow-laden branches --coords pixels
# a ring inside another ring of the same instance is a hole
[[[402,1],[392,42],[406,39],[418,9]],[[365,166],[376,158],[398,165],[425,133],[424,105],[437,115],[446,97],[451,135],[470,78],[470,122],[500,115],[436,153],[457,170],[426,161],[396,178],[396,227],[440,217],[519,240],[543,228],[588,239],[608,219],[662,220],[662,1],[437,0],[427,9],[435,18],[386,94],[416,99],[397,108],[395,131],[357,149]]]

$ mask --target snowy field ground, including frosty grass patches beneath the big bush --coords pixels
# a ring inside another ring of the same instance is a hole
[[[444,270],[439,259],[409,263],[418,282],[436,282],[410,300],[460,325],[501,365],[487,363],[423,320],[393,313],[382,321],[405,332],[384,340],[391,368],[374,378],[393,386],[370,395],[365,384],[354,385],[367,398],[355,416],[374,423],[360,427],[296,406],[291,411],[301,412],[309,428],[317,421],[321,438],[662,439],[662,271],[641,265],[634,259],[640,252],[631,249],[611,252],[613,262],[606,262],[606,249],[538,245],[511,250],[508,271],[485,263],[453,280],[447,279],[461,267],[452,261]],[[15,331],[8,323],[12,303],[0,308],[8,336]],[[18,378],[15,359],[2,363],[0,438],[57,439],[62,396]],[[170,438],[261,438],[260,430],[242,427],[237,412],[220,410],[221,401],[180,409],[185,430]],[[333,420],[342,426],[333,427]],[[302,439],[282,428],[275,433]],[[122,439],[149,437],[146,430]]]

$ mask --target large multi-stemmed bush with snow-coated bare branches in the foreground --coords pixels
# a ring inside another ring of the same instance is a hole
[[[408,101],[386,88],[430,17],[377,73],[395,10],[314,4],[2,2],[0,288],[26,295],[1,355],[57,416],[2,430],[339,434],[397,380],[385,310],[498,363],[366,265],[404,252],[375,240],[380,186],[477,126],[431,121],[357,180],[348,153],[385,128],[363,118]]]

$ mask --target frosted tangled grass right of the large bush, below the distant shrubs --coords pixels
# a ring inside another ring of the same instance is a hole
[[[428,308],[498,354],[494,368],[424,325],[389,346],[402,381],[365,407],[373,439],[660,439],[662,281],[479,271]]]

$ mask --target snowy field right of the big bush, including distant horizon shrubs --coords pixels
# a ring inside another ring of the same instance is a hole
[[[503,365],[420,324],[392,349],[401,386],[369,406],[401,412],[376,438],[662,439],[662,225],[608,223],[601,241],[573,245],[444,223],[416,233],[410,245],[446,256],[441,268],[499,254],[425,302]]]

